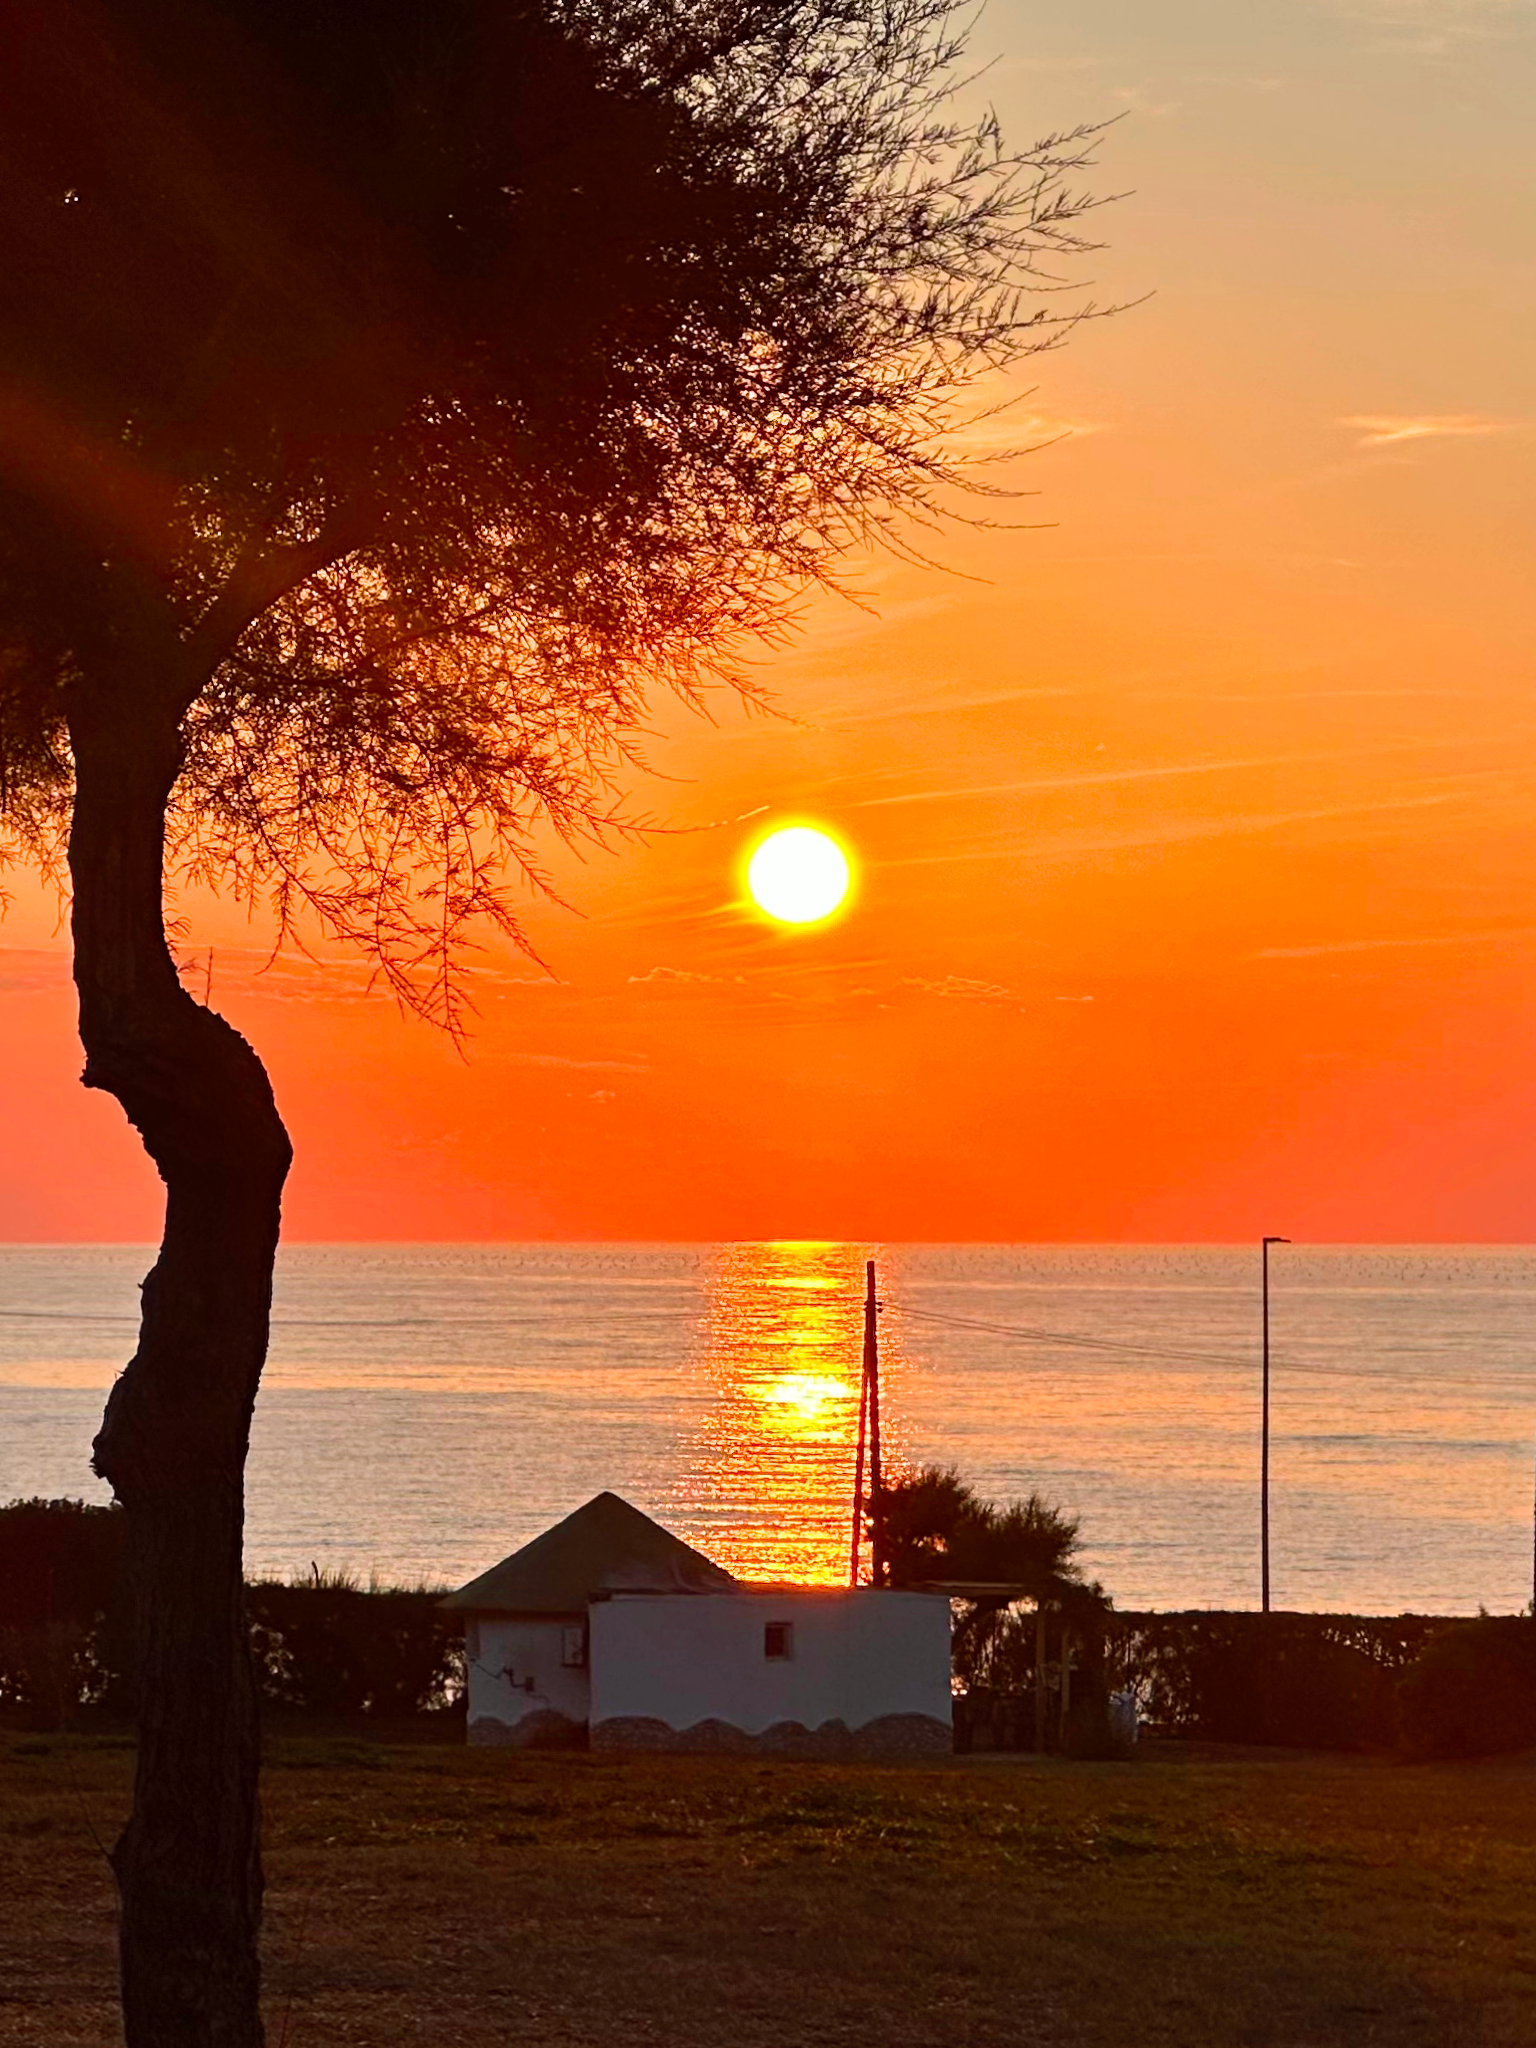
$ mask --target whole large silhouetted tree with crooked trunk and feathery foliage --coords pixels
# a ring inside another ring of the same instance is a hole
[[[260,2040],[246,1440],[289,1139],[166,877],[457,1022],[539,821],[932,514],[1059,336],[1085,135],[946,111],[944,0],[0,0],[0,799],[72,891],[84,1081],[164,1184],[94,1460],[141,1745],[133,2048]]]

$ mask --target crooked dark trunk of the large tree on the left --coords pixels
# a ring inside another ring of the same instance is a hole
[[[258,2048],[258,1726],[242,1524],[291,1149],[254,1051],[182,989],[166,944],[164,821],[180,766],[168,676],[117,676],[76,698],[84,1083],[117,1096],[166,1184],[139,1348],[94,1446],[127,1509],[135,1595],[139,1755],[133,1817],[113,1851],[125,2038]]]

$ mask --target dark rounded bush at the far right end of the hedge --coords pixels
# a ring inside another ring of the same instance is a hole
[[[1481,1616],[1446,1628],[1403,1675],[1399,1710],[1417,1757],[1536,1749],[1536,1620]]]

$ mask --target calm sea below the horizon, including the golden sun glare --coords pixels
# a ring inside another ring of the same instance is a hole
[[[0,1501],[106,1499],[135,1245],[0,1247]],[[885,1462],[1040,1493],[1120,1608],[1260,1604],[1257,1247],[291,1245],[252,1575],[455,1585],[612,1489],[754,1579],[846,1583],[866,1262]],[[1532,1597],[1536,1251],[1270,1255],[1274,1606]]]

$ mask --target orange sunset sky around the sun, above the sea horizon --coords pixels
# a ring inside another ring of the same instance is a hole
[[[1096,289],[1155,293],[1032,365],[1049,524],[866,565],[764,666],[797,723],[659,709],[680,829],[559,862],[557,979],[489,954],[467,1059],[184,901],[291,1235],[1536,1237],[1536,4],[993,0],[977,47],[1020,139],[1126,113]],[[776,813],[858,852],[840,924],[735,903]],[[147,1239],[14,895],[0,1237]]]

